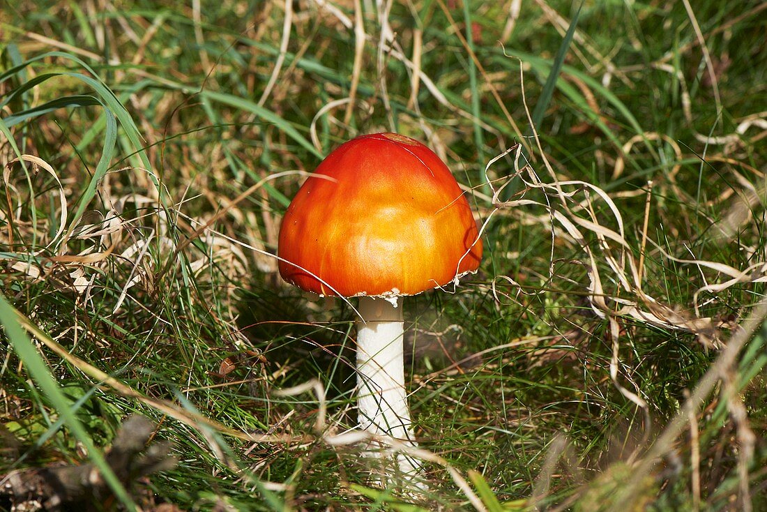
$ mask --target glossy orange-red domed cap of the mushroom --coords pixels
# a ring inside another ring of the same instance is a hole
[[[404,296],[475,272],[482,240],[453,174],[417,140],[363,135],[325,158],[280,227],[280,275],[321,295]]]

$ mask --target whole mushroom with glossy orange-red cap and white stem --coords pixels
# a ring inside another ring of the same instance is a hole
[[[337,147],[298,190],[279,233],[285,281],[359,297],[357,413],[374,439],[415,447],[403,367],[402,297],[475,273],[482,242],[448,167],[420,142],[370,134]],[[388,443],[390,444],[390,443]],[[370,452],[372,453],[372,452]],[[413,474],[420,464],[397,457]]]

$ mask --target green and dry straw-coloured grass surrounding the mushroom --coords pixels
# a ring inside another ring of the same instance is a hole
[[[0,474],[108,478],[138,413],[178,464],[110,480],[129,510],[767,507],[765,4],[373,3],[0,12]],[[304,172],[380,130],[485,223],[480,273],[405,312],[421,497],[334,438],[354,315],[270,256]]]

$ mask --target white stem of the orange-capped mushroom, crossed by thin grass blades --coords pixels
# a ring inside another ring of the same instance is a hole
[[[360,428],[386,443],[395,438],[417,446],[410,430],[405,391],[402,299],[360,297],[357,322],[357,412]],[[381,446],[380,448],[385,448]],[[420,469],[413,457],[397,455],[400,471]]]

